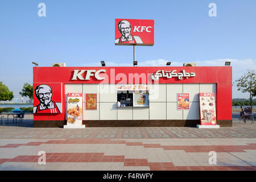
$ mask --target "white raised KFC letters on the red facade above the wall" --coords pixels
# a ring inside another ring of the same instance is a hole
[[[90,80],[91,76],[94,76],[97,80],[104,80],[105,77],[100,77],[99,74],[102,73],[106,73],[105,69],[99,69],[98,71],[96,70],[74,70],[74,74],[73,74],[73,78],[71,80],[77,80],[77,78],[79,78],[79,80]],[[86,71],[86,75],[85,78],[82,76],[82,74]]]

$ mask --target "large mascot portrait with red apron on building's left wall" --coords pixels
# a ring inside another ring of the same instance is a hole
[[[34,107],[34,113],[61,113],[61,102],[52,101],[52,88],[49,85],[38,85],[35,88],[35,96],[40,102]]]

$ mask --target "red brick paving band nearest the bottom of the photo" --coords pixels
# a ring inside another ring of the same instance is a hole
[[[39,156],[19,155],[5,162],[38,162]],[[104,155],[104,153],[48,153],[46,162],[123,162],[123,166],[148,166],[151,171],[256,171],[251,166],[174,166],[171,162],[148,162],[147,159],[125,159],[125,156]]]

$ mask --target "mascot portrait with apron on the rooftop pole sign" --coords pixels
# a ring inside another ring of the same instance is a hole
[[[115,39],[115,43],[128,43],[128,44],[143,44],[139,36],[131,35],[131,23],[127,20],[122,20],[118,24],[118,30],[121,37]]]

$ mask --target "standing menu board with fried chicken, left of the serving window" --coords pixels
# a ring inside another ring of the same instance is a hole
[[[82,125],[82,93],[68,93],[67,125]]]

